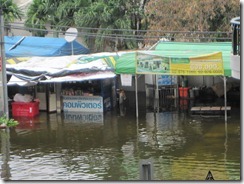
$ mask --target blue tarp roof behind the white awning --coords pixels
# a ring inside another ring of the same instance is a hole
[[[90,50],[77,41],[73,41],[73,54],[89,54]],[[65,56],[72,55],[72,43],[64,38],[32,37],[32,36],[5,36],[5,56]]]

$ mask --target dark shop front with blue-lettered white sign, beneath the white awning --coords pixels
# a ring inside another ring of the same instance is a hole
[[[67,113],[103,113],[116,105],[114,78],[62,83],[61,91],[61,109],[66,116]]]

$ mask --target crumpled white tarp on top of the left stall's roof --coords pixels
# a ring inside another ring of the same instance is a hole
[[[112,55],[112,54],[110,54]],[[108,55],[108,57],[110,56]],[[102,58],[101,58],[102,57]],[[6,69],[9,72],[29,73],[33,75],[45,74],[49,76],[60,76],[81,71],[107,71],[113,70],[104,56],[94,55],[74,55],[60,57],[31,57],[26,58],[17,64],[8,64]],[[18,59],[18,58],[16,58]]]

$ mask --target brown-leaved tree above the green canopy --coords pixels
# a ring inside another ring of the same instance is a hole
[[[238,0],[150,0],[146,6],[146,15],[149,22],[147,36],[151,38],[169,36],[169,34],[175,37],[177,32],[182,31],[228,32],[230,20],[240,15],[240,2]],[[188,39],[187,37],[190,36],[192,35],[181,35],[181,38]]]

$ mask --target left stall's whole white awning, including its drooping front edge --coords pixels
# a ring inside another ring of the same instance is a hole
[[[11,58],[6,70],[26,82],[83,81],[114,77],[116,53],[60,57]]]

